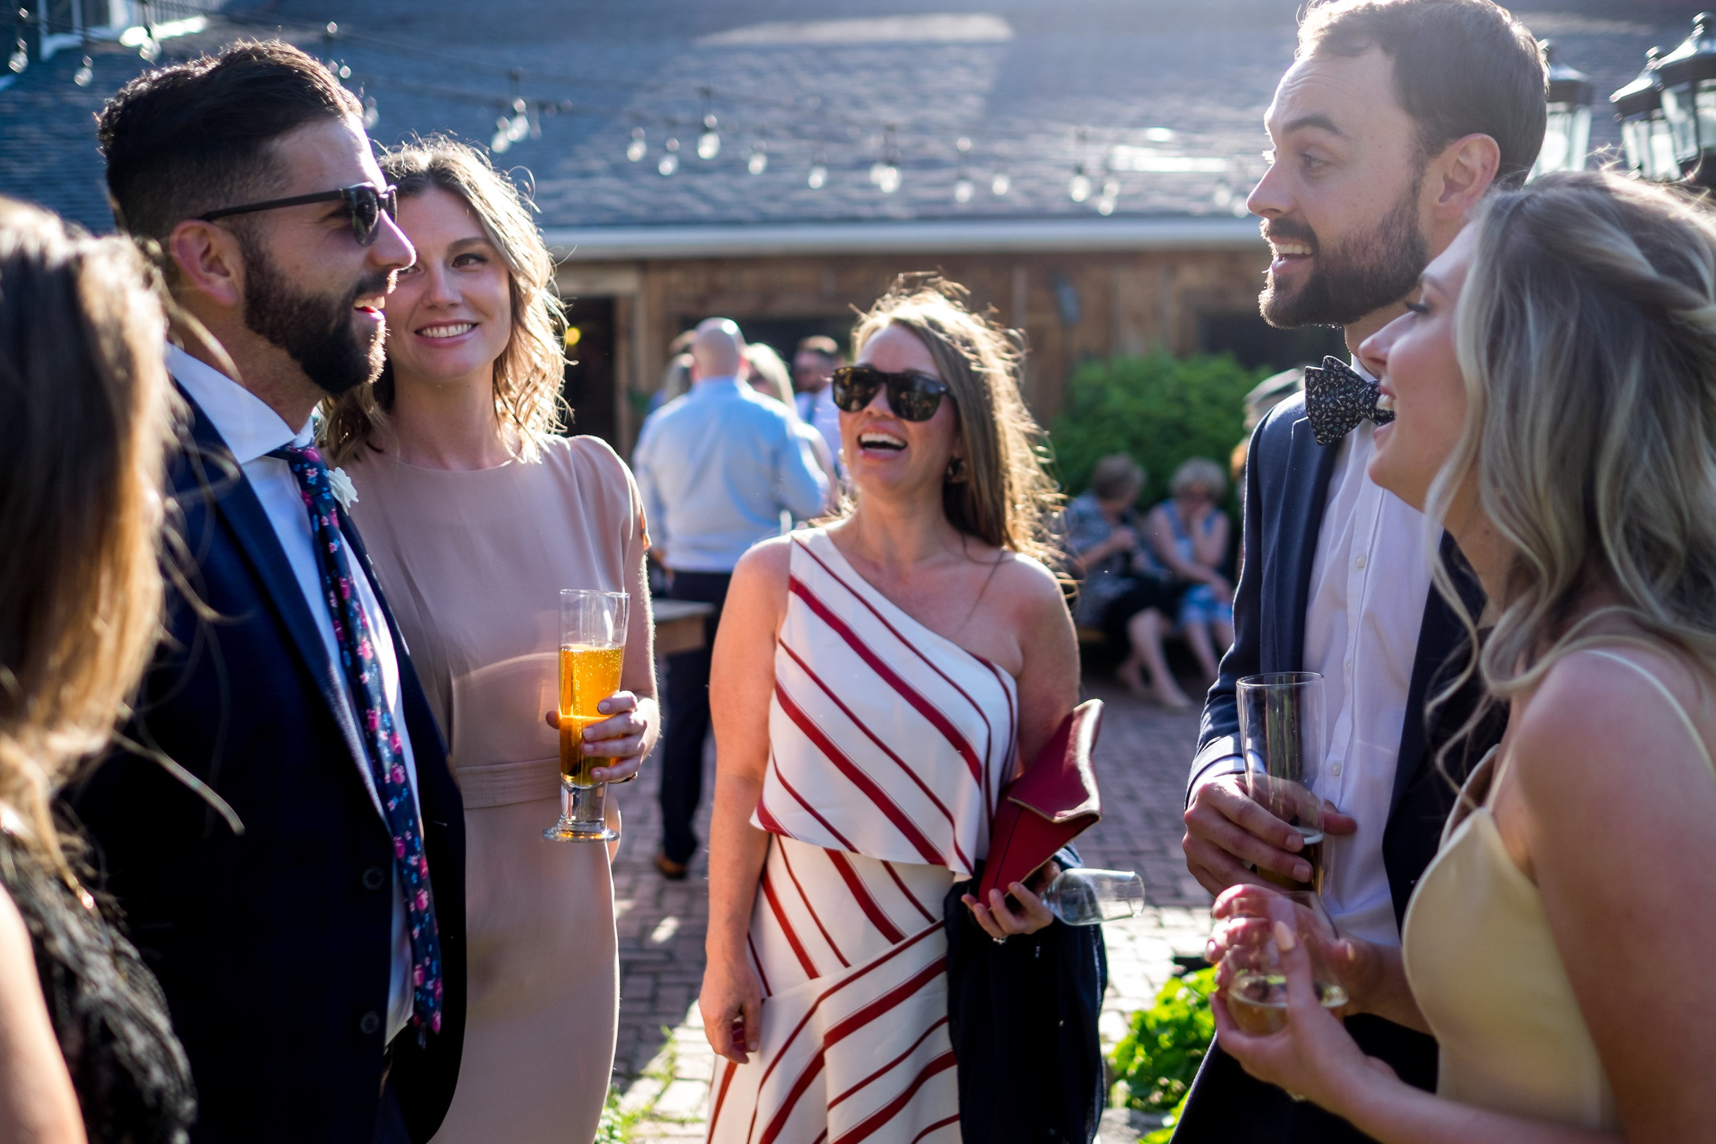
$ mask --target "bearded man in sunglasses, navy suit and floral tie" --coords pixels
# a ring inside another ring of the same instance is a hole
[[[168,638],[72,811],[166,991],[194,1141],[427,1141],[463,1038],[463,808],[311,439],[379,374],[415,252],[360,105],[288,45],[132,81],[100,141],[196,322],[166,350],[190,413]]]

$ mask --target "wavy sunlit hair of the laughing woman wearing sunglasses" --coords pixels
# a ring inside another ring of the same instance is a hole
[[[942,508],[959,532],[1050,568],[1060,554],[1050,527],[1060,492],[1045,467],[1045,434],[1019,396],[1023,338],[988,314],[973,314],[970,292],[939,274],[901,274],[853,329],[853,360],[887,326],[904,326],[930,352],[959,415],[964,477],[942,485]]]

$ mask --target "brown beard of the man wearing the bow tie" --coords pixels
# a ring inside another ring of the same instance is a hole
[[[1277,292],[1270,276],[1258,295],[1263,319],[1277,329],[1349,326],[1412,293],[1417,276],[1429,264],[1429,247],[1417,228],[1417,180],[1412,180],[1400,202],[1373,230],[1328,249],[1304,223],[1285,218],[1270,221],[1270,237],[1309,245],[1314,266],[1296,293]]]

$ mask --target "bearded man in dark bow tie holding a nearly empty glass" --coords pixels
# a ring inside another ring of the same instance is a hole
[[[1311,876],[1301,834],[1246,798],[1236,681],[1323,676],[1321,895],[1359,974],[1399,957],[1407,899],[1453,803],[1462,768],[1500,727],[1459,731],[1465,688],[1429,705],[1469,659],[1465,631],[1431,587],[1443,561],[1472,614],[1476,576],[1447,533],[1375,485],[1371,432],[1393,418],[1364,340],[1407,312],[1424,266],[1493,185],[1519,185],[1544,130],[1543,55],[1489,0],[1337,0],[1313,5],[1266,115],[1273,163],[1248,206],[1273,261],[1260,298],[1272,326],[1342,326],[1350,365],[1306,370],[1251,439],[1234,647],[1205,703],[1186,792],[1186,866],[1211,894],[1270,871]],[[1381,400],[1381,406],[1378,406]],[[1352,988],[1354,996],[1363,988]],[[1347,1029],[1424,1089],[1436,1043],[1373,1014]],[[1364,1141],[1345,1120],[1254,1081],[1217,1043],[1174,1141]]]

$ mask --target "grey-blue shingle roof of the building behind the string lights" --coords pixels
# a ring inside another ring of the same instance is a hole
[[[551,228],[1091,218],[1110,177],[1115,216],[1230,216],[1261,170],[1263,110],[1292,58],[1297,3],[940,0],[925,15],[911,0],[280,0],[165,41],[163,60],[278,27],[352,69],[348,84],[376,96],[372,135],[384,142],[432,130],[487,142],[522,96],[551,113],[498,161],[530,172]],[[1613,144],[1606,93],[1690,22],[1618,0],[1553,9],[1522,19],[1592,77],[1592,146]],[[340,33],[324,41],[329,19]],[[74,50],[0,91],[0,192],[106,228],[91,117],[144,65],[118,45],[91,55],[88,87],[70,81]],[[700,87],[722,141],[710,161],[697,158]],[[868,178],[885,125],[894,194]],[[635,127],[647,156],[633,163]],[[669,134],[680,165],[662,177]],[[753,144],[767,154],[760,175],[746,168]],[[829,173],[813,190],[819,153]],[[1083,204],[1067,196],[1079,158],[1093,180]],[[961,170],[970,202],[954,199]],[[1012,187],[995,196],[1002,170]]]

